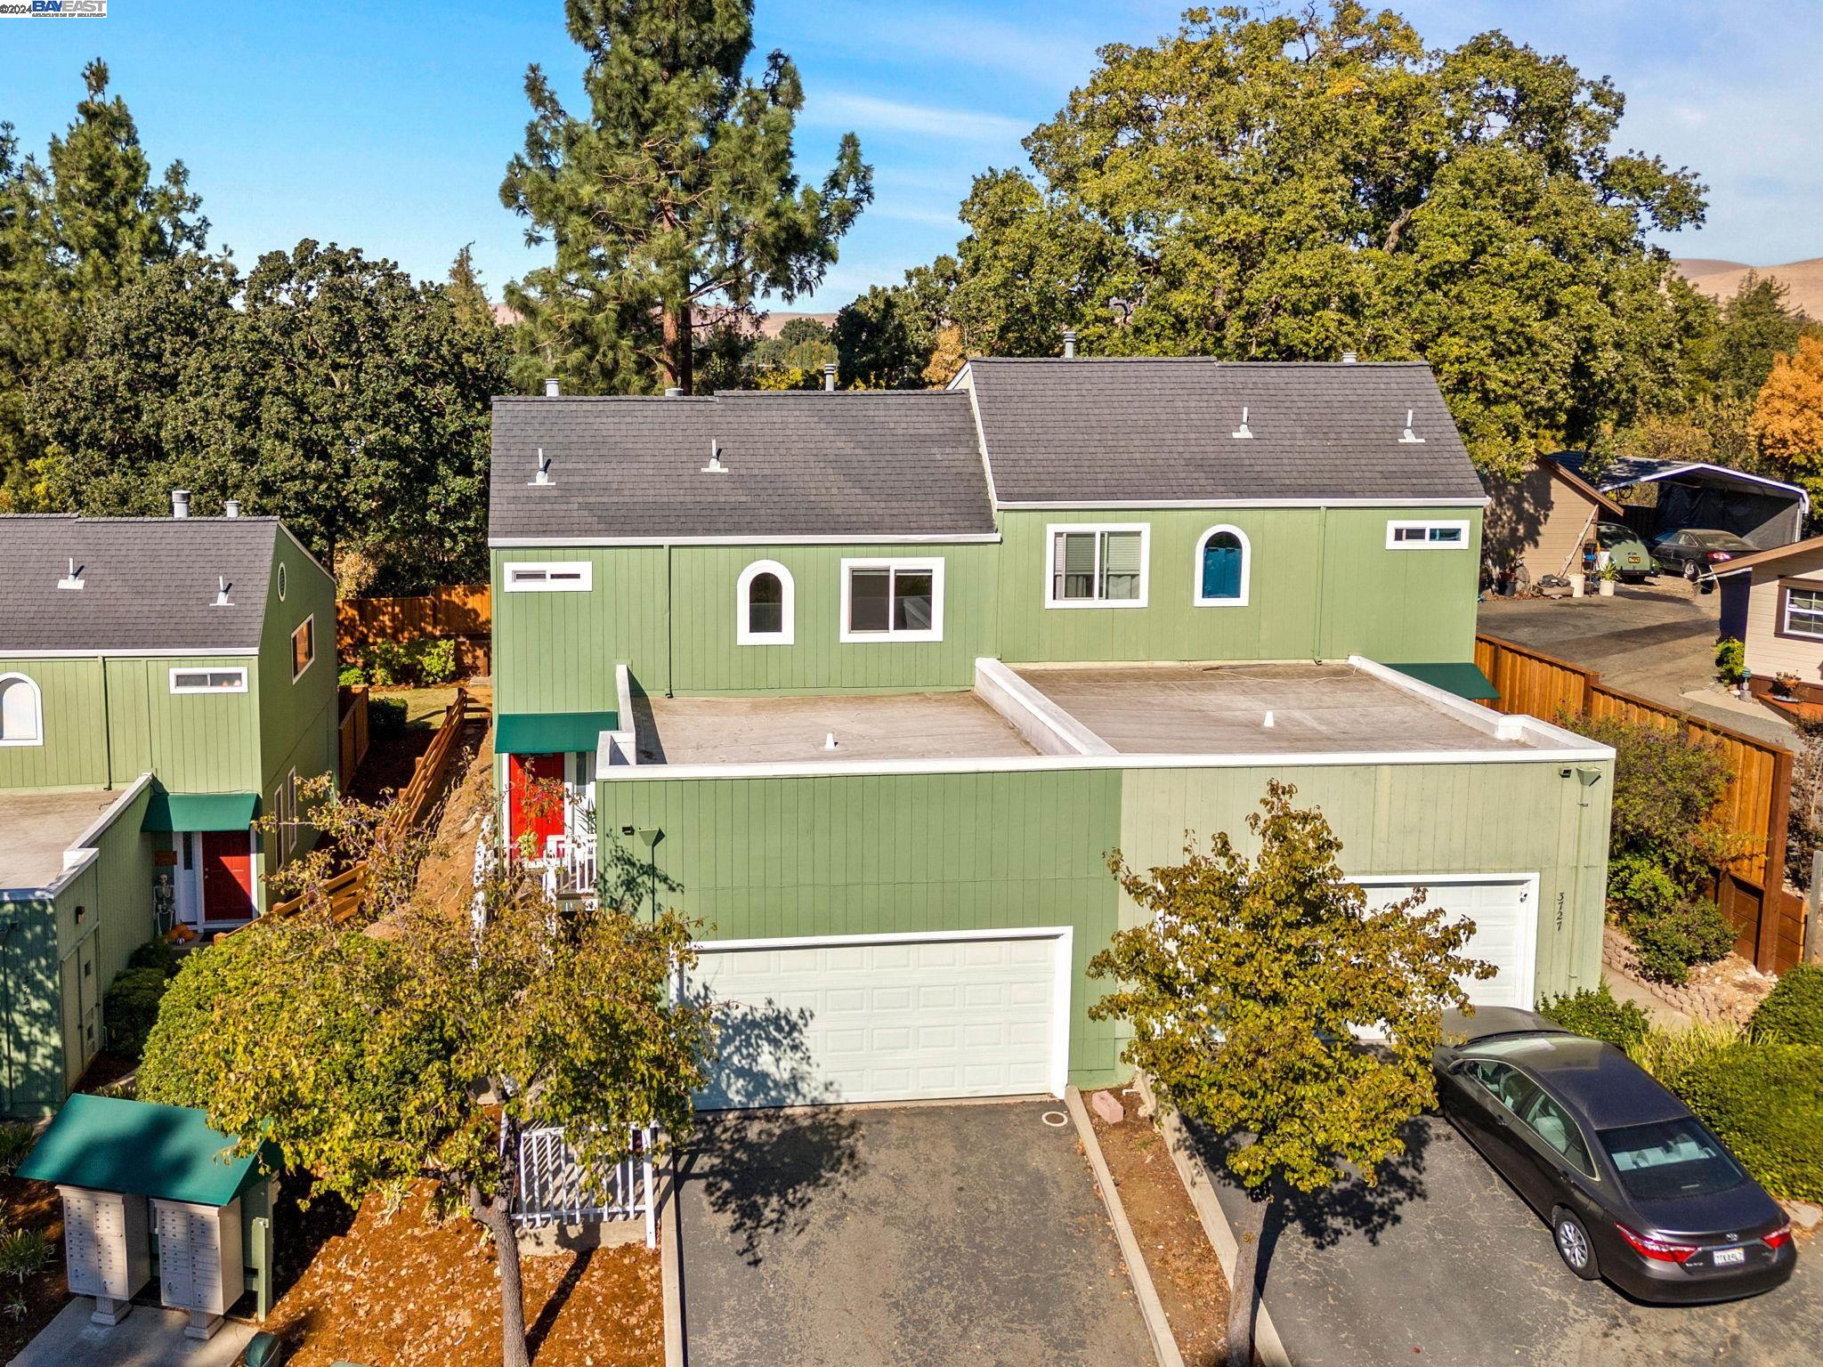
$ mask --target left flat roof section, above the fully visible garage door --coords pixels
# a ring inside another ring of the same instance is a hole
[[[640,764],[819,764],[1037,755],[973,693],[649,698]],[[837,747],[828,749],[833,735]]]

